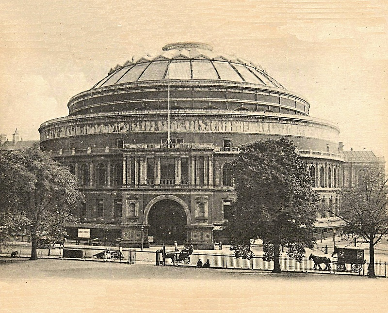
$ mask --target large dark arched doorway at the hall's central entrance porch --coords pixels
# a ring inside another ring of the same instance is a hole
[[[187,217],[183,207],[173,200],[161,200],[152,205],[148,212],[148,236],[154,244],[171,245],[186,242]]]

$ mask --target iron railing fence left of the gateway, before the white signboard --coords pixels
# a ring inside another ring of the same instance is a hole
[[[64,250],[65,256],[64,256]],[[2,250],[1,256],[10,256],[12,252],[17,251],[18,257],[31,256],[31,243],[7,244]],[[121,252],[121,254],[120,254]],[[106,261],[119,263],[136,263],[136,250],[108,246],[83,246],[83,245],[65,245],[65,247],[37,248],[38,258],[68,258],[89,261]]]

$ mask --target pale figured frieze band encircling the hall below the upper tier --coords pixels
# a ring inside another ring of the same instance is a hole
[[[56,125],[42,126],[40,129],[41,141],[79,135],[111,134],[111,133],[136,133],[136,132],[166,132],[168,123],[161,120],[160,116],[150,116],[117,122],[99,123],[73,123],[64,121]],[[68,125],[64,125],[68,124]],[[332,141],[338,136],[335,128],[324,125],[307,123],[295,124],[282,120],[233,120],[218,118],[196,118],[182,116],[174,118],[170,123],[170,130],[173,132],[222,132],[222,133],[251,133],[251,134],[272,134],[288,135],[299,137],[314,137]]]

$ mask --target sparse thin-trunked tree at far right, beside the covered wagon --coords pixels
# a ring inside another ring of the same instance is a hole
[[[339,213],[333,212],[369,243],[370,278],[376,277],[374,246],[388,233],[387,181],[384,172],[365,168],[359,172],[356,186],[342,189]]]

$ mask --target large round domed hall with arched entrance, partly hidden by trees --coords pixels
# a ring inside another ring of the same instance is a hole
[[[321,201],[338,205],[338,127],[310,117],[307,100],[260,66],[209,45],[169,44],[117,65],[67,106],[68,116],[39,132],[41,147],[85,194],[70,237],[88,230],[127,247],[177,240],[214,249],[235,198],[230,162],[238,146],[281,137],[298,147]]]

